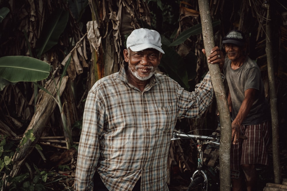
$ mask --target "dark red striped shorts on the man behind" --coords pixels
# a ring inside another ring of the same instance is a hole
[[[265,121],[257,125],[241,125],[241,134],[247,139],[239,139],[237,145],[231,145],[231,171],[240,171],[242,164],[268,164],[269,124]]]

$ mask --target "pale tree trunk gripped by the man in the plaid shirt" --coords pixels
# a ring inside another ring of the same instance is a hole
[[[203,43],[206,56],[214,47],[213,29],[208,0],[198,0],[202,25]],[[221,133],[220,133],[220,190],[230,190],[230,149],[231,149],[231,119],[227,97],[218,64],[208,64],[212,85],[218,105]]]

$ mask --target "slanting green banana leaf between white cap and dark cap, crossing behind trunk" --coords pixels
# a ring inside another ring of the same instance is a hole
[[[221,21],[213,21],[212,26],[215,27],[220,24]],[[202,33],[201,23],[196,24],[189,29],[186,29],[183,31],[179,36],[169,45],[169,46],[177,46],[179,44],[182,44],[192,35],[197,35]]]

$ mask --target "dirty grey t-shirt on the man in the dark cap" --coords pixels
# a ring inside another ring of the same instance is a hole
[[[257,91],[256,99],[242,125],[256,125],[270,119],[270,109],[265,98],[263,81],[258,65],[247,57],[243,65],[233,70],[231,60],[225,59],[224,74],[228,83],[232,100],[232,121],[235,119],[245,98],[245,90],[254,88]]]

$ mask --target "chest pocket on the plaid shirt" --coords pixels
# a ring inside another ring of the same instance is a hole
[[[151,122],[163,133],[170,130],[172,123],[171,106],[155,106],[150,113]]]

